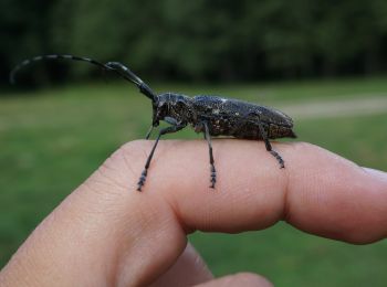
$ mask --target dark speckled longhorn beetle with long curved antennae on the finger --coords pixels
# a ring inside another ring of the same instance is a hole
[[[146,134],[146,139],[150,137],[153,129],[159,125],[160,120],[170,125],[169,127],[161,128],[158,132],[156,141],[146,160],[144,171],[139,177],[137,183],[138,191],[142,191],[146,181],[149,164],[160,137],[166,134],[176,132],[187,125],[191,125],[196,132],[203,132],[205,139],[207,140],[211,171],[210,188],[212,189],[217,181],[217,171],[212,155],[211,136],[231,136],[240,139],[263,140],[266,150],[276,159],[280,168],[284,168],[282,157],[272,149],[269,139],[284,137],[295,138],[296,136],[292,130],[293,120],[287,115],[271,107],[219,96],[199,95],[189,97],[177,93],[157,95],[135,73],[119,62],[102,64],[90,57],[73,55],[41,55],[25,60],[12,70],[10,81],[14,83],[15,74],[19,70],[32,62],[57,59],[88,62],[103,70],[113,71],[123,78],[134,83],[142,94],[150,98],[153,105],[153,121]]]

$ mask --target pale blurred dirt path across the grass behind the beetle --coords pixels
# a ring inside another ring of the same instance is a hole
[[[354,115],[387,114],[387,94],[356,98],[321,99],[294,105],[280,105],[279,109],[295,119],[333,118]]]

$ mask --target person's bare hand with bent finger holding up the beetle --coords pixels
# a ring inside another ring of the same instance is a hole
[[[213,279],[189,244],[200,231],[258,231],[286,221],[304,232],[367,244],[387,236],[387,173],[303,142],[161,141],[143,192],[151,141],[126,144],[29,236],[0,286],[270,286],[254,274]],[[65,174],[63,174],[65,180]],[[231,258],[230,258],[231,259]]]

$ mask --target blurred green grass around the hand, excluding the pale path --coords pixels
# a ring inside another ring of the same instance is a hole
[[[260,85],[156,85],[264,105],[384,95],[387,78]],[[150,103],[124,84],[88,84],[0,97],[0,267],[61,200],[122,144],[144,137]],[[387,170],[386,113],[295,118],[300,140]],[[169,138],[201,138],[187,129]],[[304,234],[286,224],[237,235],[190,236],[219,276],[250,270],[278,286],[386,286],[387,241],[366,246]]]

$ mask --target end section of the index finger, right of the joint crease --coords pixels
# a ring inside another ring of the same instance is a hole
[[[387,236],[385,172],[363,169],[331,151],[294,145],[285,220],[297,228],[352,244]]]

